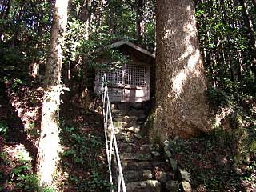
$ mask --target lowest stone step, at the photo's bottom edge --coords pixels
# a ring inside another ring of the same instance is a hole
[[[160,192],[161,183],[157,180],[146,180],[142,182],[126,183],[127,192]]]

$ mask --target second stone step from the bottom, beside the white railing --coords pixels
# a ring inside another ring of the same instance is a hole
[[[151,170],[126,170],[125,182],[138,182],[153,178]]]

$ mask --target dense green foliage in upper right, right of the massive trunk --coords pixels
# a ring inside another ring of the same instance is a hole
[[[251,77],[250,82],[254,82],[252,50],[255,47],[251,46],[253,37],[248,34],[242,1],[196,2],[198,34],[209,81],[222,90],[230,88],[229,81],[234,84],[240,82],[238,87],[248,77]],[[251,2],[246,2],[246,9],[250,19],[254,19],[256,14]],[[247,80],[245,82],[248,83]]]

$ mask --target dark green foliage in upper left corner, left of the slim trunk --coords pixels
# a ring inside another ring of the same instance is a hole
[[[0,59],[2,64],[15,66],[23,72],[34,58],[46,58],[52,20],[51,2],[6,1],[8,9],[0,13],[9,14],[0,21],[2,40]]]

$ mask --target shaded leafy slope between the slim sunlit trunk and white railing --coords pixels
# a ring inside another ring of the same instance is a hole
[[[63,191],[110,190],[103,138],[102,115],[94,109],[74,105],[70,93],[62,98],[62,174],[58,184]]]

